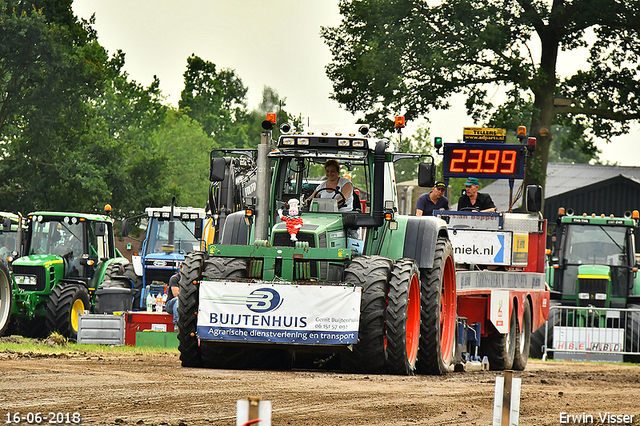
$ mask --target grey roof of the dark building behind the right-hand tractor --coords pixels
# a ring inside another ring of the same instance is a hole
[[[544,197],[548,199],[617,176],[622,176],[640,185],[640,167],[549,163],[547,165],[547,181],[544,189]],[[514,181],[514,197],[521,184],[522,180],[520,179]],[[508,209],[509,180],[496,180],[484,188],[481,187],[480,192],[490,194],[498,210],[506,211]],[[514,207],[520,204],[521,201],[519,200],[515,203]]]

